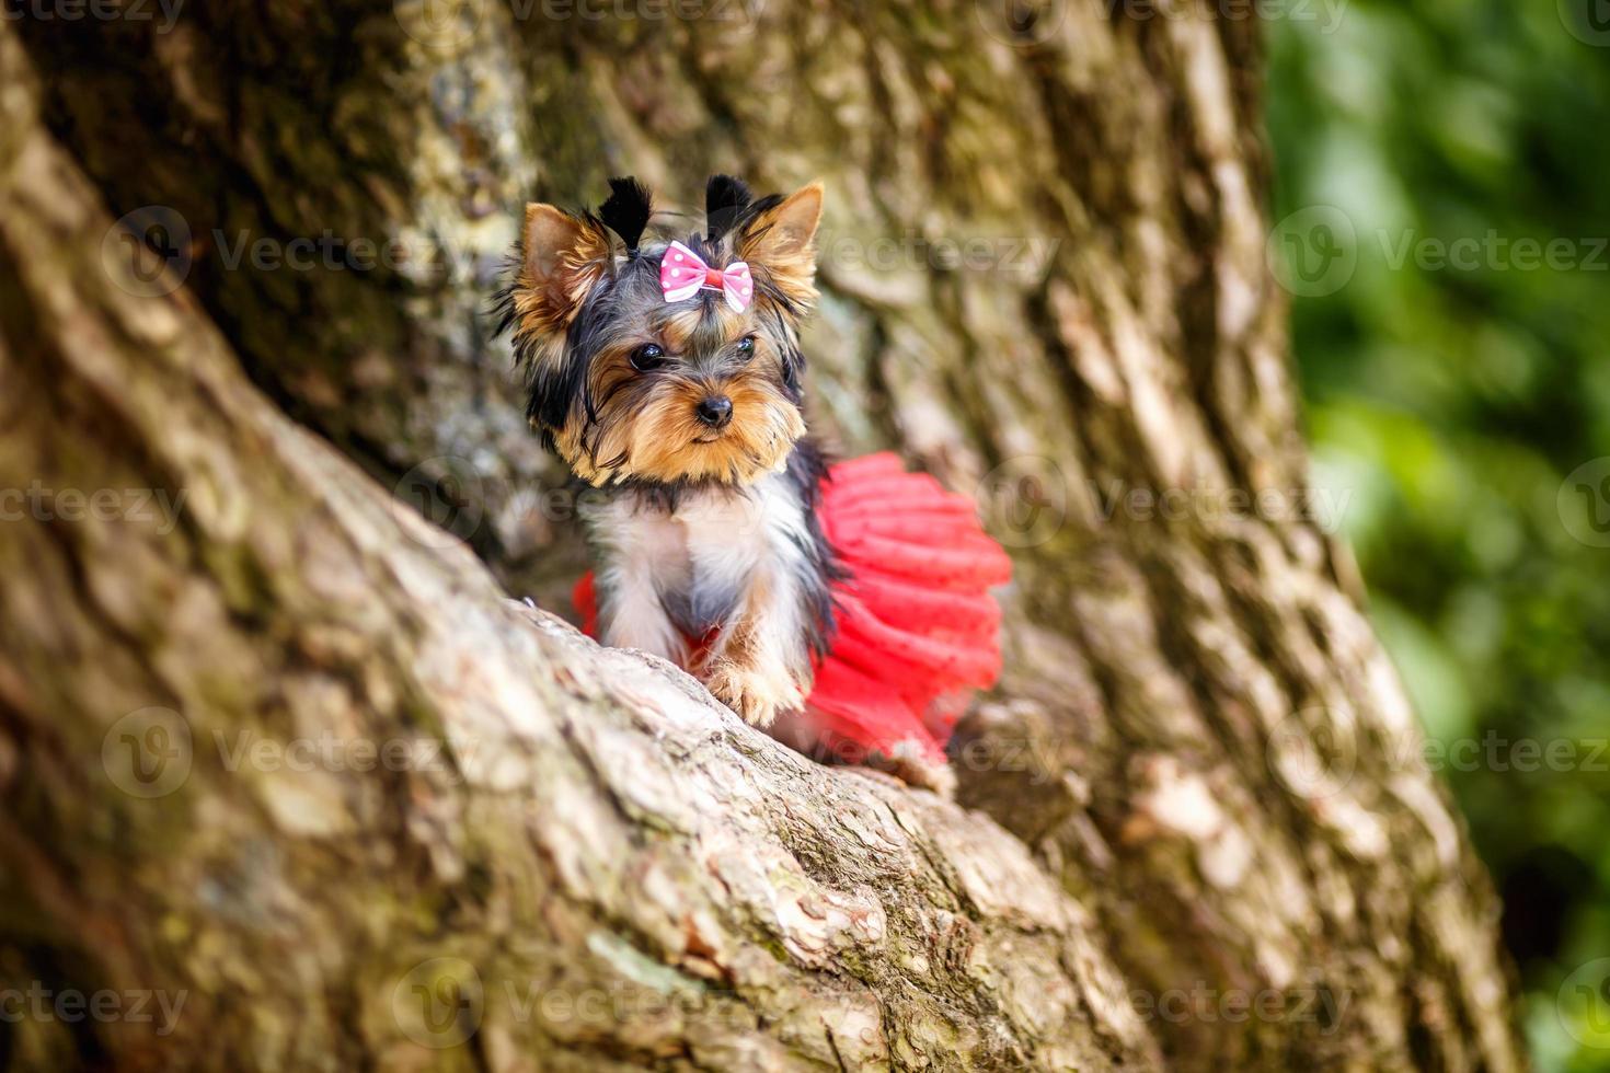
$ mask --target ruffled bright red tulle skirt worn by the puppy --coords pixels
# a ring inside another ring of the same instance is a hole
[[[848,763],[942,769],[956,717],[1000,674],[990,587],[1011,579],[1011,560],[972,500],[889,452],[831,467],[819,518],[848,576],[832,587],[837,631],[807,711],[779,721],[779,737]],[[592,574],[572,598],[597,635]]]

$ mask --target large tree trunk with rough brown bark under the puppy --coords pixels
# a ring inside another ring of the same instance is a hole
[[[0,24],[0,487],[185,494],[5,523],[0,981],[187,996],[164,1036],[0,1023],[11,1062],[1520,1068],[1348,552],[1248,507],[1306,467],[1257,27],[610,10]],[[818,426],[1014,552],[958,804],[507,600],[565,611],[581,561],[483,314],[514,209],[708,171],[826,179]],[[156,286],[103,243],[153,204]]]

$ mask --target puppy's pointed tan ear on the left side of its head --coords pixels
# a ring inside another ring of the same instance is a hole
[[[597,219],[551,204],[525,206],[512,294],[518,327],[535,336],[564,331],[609,267],[609,233]]]

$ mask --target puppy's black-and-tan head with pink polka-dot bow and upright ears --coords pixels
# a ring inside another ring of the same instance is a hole
[[[779,470],[805,431],[799,320],[816,298],[821,185],[755,199],[715,175],[705,232],[652,243],[649,191],[610,187],[597,212],[525,209],[501,307],[531,423],[591,484]]]

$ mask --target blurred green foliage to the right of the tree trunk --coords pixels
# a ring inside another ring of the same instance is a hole
[[[1610,960],[1557,1001],[1610,959],[1610,547],[1573,536],[1610,462],[1562,495],[1610,455],[1610,2],[1267,14],[1315,481],[1505,899],[1538,1068],[1610,1070]]]

